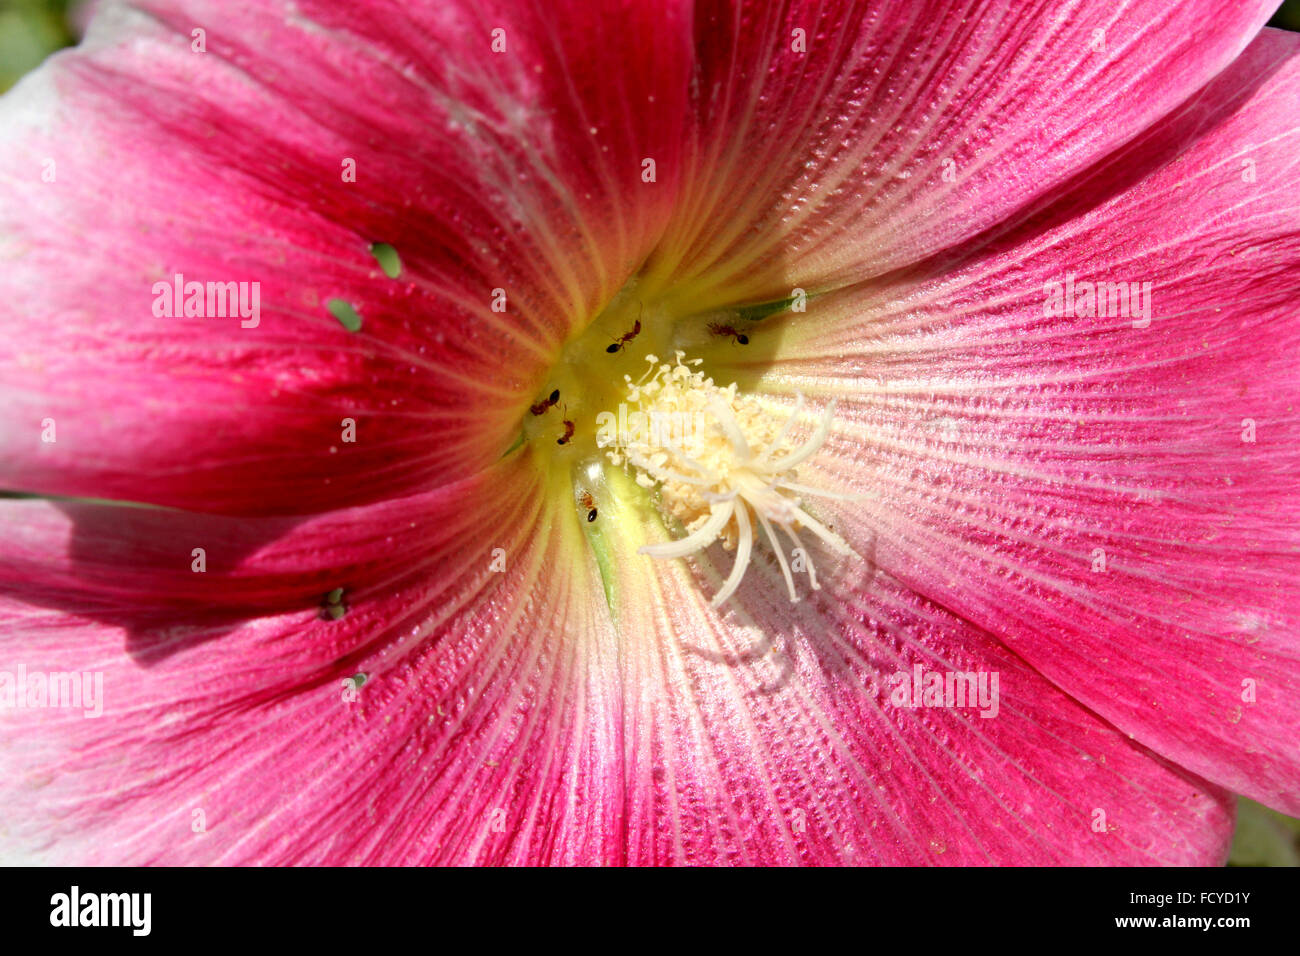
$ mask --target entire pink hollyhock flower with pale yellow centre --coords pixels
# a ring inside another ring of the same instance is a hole
[[[0,101],[9,858],[1300,813],[1269,12],[105,3]]]

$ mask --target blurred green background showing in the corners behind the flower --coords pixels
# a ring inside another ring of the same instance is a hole
[[[92,0],[0,0],[0,91],[74,43],[91,5]],[[1287,0],[1270,23],[1300,30],[1300,0]],[[1228,865],[1300,866],[1300,819],[1242,800]]]

